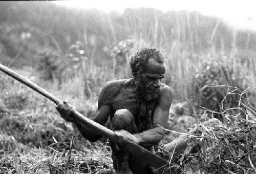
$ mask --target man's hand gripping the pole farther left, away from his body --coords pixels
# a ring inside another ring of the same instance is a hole
[[[75,120],[72,118],[76,107],[69,101],[63,101],[63,103],[57,105],[56,110],[59,112],[60,116],[66,121],[75,123]]]

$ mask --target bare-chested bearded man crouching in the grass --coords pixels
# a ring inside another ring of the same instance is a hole
[[[113,165],[117,173],[150,173],[143,161],[122,148],[124,139],[147,149],[164,136],[172,90],[161,83],[165,74],[165,55],[156,48],[142,48],[131,56],[133,78],[107,82],[100,93],[94,121],[104,125],[110,117],[118,144],[111,142]],[[57,107],[62,118],[76,124],[84,138],[97,141],[101,135],[72,118],[74,108],[65,102]]]

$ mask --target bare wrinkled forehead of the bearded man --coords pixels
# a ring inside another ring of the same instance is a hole
[[[154,59],[150,59],[147,62],[144,70],[145,74],[165,74],[165,63],[158,62]]]

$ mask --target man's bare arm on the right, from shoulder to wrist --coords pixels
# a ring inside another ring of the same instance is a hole
[[[139,139],[139,144],[152,146],[160,142],[164,136],[164,130],[161,126],[166,126],[172,100],[172,90],[167,85],[163,86],[153,115],[153,128],[139,134],[134,134],[134,136]]]

